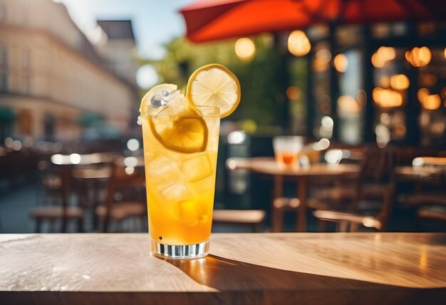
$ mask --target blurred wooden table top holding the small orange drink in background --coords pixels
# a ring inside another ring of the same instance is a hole
[[[231,170],[251,170],[266,175],[284,175],[293,177],[319,177],[358,173],[360,166],[356,164],[328,165],[316,163],[308,167],[281,167],[274,157],[230,158],[227,166]]]

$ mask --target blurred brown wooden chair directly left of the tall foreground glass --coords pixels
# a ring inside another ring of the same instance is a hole
[[[103,219],[103,232],[109,231],[111,220],[122,223],[124,219],[141,219],[147,216],[145,195],[143,195],[145,193],[143,164],[142,160],[138,160],[137,166],[126,167],[124,157],[118,157],[113,161],[104,205],[97,207],[95,211],[98,217]],[[138,197],[125,198],[127,197],[125,191],[129,190],[131,195]],[[117,202],[115,195],[118,191],[123,192],[123,200]]]

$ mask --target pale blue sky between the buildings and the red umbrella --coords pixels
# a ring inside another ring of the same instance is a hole
[[[78,27],[88,34],[98,19],[130,19],[135,39],[144,58],[160,59],[163,43],[185,34],[185,22],[178,12],[195,0],[53,0],[66,5]]]

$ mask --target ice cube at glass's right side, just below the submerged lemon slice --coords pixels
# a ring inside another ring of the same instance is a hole
[[[180,170],[185,175],[186,181],[197,182],[212,175],[214,172],[212,157],[210,153],[204,153],[182,162]]]

